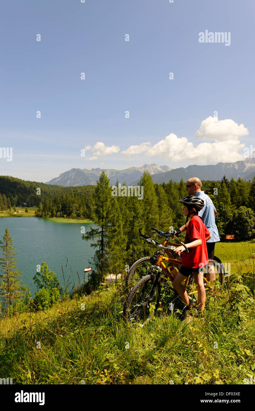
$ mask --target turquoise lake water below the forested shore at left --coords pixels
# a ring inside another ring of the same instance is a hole
[[[23,272],[23,276],[20,277],[22,284],[28,284],[32,296],[36,292],[33,277],[37,265],[41,265],[42,261],[45,261],[50,270],[56,273],[60,286],[64,285],[61,265],[65,282],[70,276],[69,289],[74,283],[78,284],[78,275],[83,282],[84,268],[91,266],[89,261],[95,250],[90,247],[90,242],[82,240],[81,226],[85,227],[85,232],[89,231],[90,226],[96,228],[92,223],[57,223],[36,217],[0,218],[0,240],[5,234],[5,229],[8,228],[17,254],[18,271]],[[1,249],[0,256],[2,257]],[[85,275],[86,279],[87,275]]]

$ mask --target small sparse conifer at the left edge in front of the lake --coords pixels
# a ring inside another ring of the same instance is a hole
[[[7,298],[9,305],[18,297],[25,296],[26,285],[20,284],[22,272],[18,272],[16,253],[11,247],[13,242],[8,229],[5,229],[5,235],[2,236],[3,241],[0,240],[0,248],[4,257],[0,258],[0,266],[2,267],[0,274],[0,295]]]

